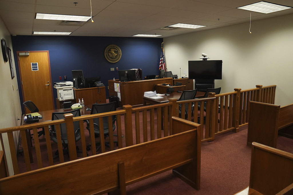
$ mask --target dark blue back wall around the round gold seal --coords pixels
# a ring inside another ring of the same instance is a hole
[[[23,101],[16,51],[49,50],[52,82],[72,81],[71,70],[83,70],[84,77],[101,77],[108,86],[108,80],[118,78],[119,70],[141,68],[143,77],[159,74],[161,38],[136,37],[63,37],[63,36],[12,36],[16,75],[21,103]],[[105,48],[115,44],[120,47],[122,56],[117,63],[105,59]],[[115,68],[115,71],[110,71]],[[62,80],[59,80],[59,76]],[[134,89],[135,90],[135,89]],[[54,99],[57,91],[53,88]],[[106,96],[108,96],[106,87]],[[56,101],[55,101],[56,103]],[[56,104],[55,104],[56,106]]]

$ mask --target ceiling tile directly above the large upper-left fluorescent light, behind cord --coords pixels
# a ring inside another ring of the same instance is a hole
[[[92,15],[98,14],[99,9],[93,9]],[[37,5],[36,7],[37,13],[52,13],[52,14],[64,14],[64,15],[91,15],[91,8],[71,8],[71,7],[59,7],[59,6],[46,6],[46,5]]]

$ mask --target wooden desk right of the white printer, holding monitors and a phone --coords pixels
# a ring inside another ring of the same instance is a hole
[[[78,99],[83,98],[85,105],[93,105],[93,103],[106,103],[106,88],[105,87],[91,87],[84,89],[73,88],[75,102],[78,103]],[[91,106],[90,106],[91,108]]]

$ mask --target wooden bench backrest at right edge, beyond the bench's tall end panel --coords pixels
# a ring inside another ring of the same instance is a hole
[[[293,104],[280,108],[278,129],[282,129],[293,124]]]

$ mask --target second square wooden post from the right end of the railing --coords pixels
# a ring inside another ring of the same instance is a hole
[[[235,88],[234,91],[237,92],[237,94],[233,94],[232,127],[235,127],[235,129],[232,130],[232,132],[237,133],[237,132],[239,132],[239,114],[240,114],[240,110],[242,109],[242,108],[240,108],[241,89]]]

